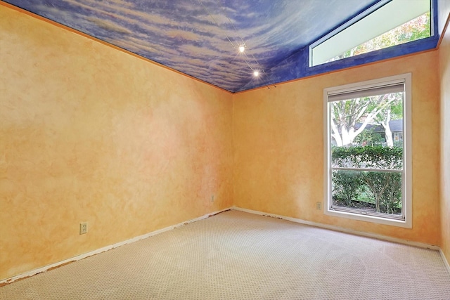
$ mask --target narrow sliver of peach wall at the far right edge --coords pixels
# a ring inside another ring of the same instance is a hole
[[[449,6],[450,8],[450,6]],[[448,10],[447,10],[448,11]],[[450,13],[447,20],[450,19]],[[441,79],[441,249],[450,263],[450,28],[439,46]]]

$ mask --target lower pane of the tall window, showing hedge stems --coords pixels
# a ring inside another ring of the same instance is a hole
[[[401,215],[401,173],[333,170],[331,195],[333,209]]]

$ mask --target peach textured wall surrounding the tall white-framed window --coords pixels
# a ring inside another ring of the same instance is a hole
[[[233,98],[237,207],[390,237],[439,244],[437,51],[238,93]],[[411,72],[413,228],[326,216],[323,201],[323,89]]]

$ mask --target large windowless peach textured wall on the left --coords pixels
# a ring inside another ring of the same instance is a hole
[[[0,41],[0,280],[231,207],[231,93],[6,6]]]

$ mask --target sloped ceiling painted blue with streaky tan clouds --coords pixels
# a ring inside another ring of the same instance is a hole
[[[272,68],[378,1],[6,0],[231,92],[277,83]]]

